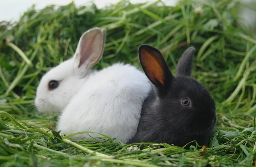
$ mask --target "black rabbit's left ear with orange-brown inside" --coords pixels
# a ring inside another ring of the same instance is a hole
[[[140,64],[148,79],[160,93],[167,92],[173,76],[163,55],[156,48],[144,44],[140,45],[138,53]]]

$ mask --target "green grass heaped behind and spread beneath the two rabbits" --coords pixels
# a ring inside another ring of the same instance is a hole
[[[175,7],[121,1],[100,10],[70,3],[40,11],[32,7],[17,23],[1,22],[0,167],[255,167],[256,38],[239,19],[240,5],[235,0],[186,0]],[[162,51],[175,72],[182,52],[195,46],[192,76],[217,102],[209,147],[148,144],[136,150],[106,138],[70,141],[54,131],[56,115],[36,112],[41,76],[71,57],[81,34],[95,26],[107,29],[96,69],[119,61],[140,68],[137,48],[147,43]]]

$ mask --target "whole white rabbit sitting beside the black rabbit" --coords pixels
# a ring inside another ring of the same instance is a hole
[[[102,57],[105,29],[93,28],[80,38],[73,58],[45,74],[37,88],[39,112],[61,112],[57,130],[62,134],[97,133],[126,143],[136,131],[143,101],[151,83],[132,65],[116,63],[100,71],[93,67]],[[88,134],[73,139],[90,139]]]

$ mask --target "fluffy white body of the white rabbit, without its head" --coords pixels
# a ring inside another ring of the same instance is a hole
[[[136,133],[149,88],[146,76],[131,65],[115,64],[91,74],[64,108],[57,130],[64,134],[92,131],[128,142]],[[73,139],[90,136],[84,133]]]

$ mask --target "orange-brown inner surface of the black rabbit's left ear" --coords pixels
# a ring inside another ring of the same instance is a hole
[[[164,71],[161,59],[157,57],[159,53],[155,50],[148,50],[146,48],[140,49],[140,60],[143,65],[143,69],[148,78],[153,83],[160,82],[164,85]]]

